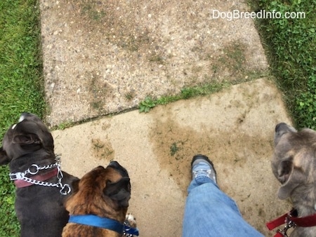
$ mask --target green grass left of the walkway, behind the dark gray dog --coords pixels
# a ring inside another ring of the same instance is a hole
[[[0,1],[0,138],[22,111],[45,114],[39,7],[35,0]],[[15,187],[0,167],[0,236],[19,236]]]

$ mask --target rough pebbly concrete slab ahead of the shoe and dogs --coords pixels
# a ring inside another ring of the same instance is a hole
[[[39,2],[51,126],[268,69],[253,20],[218,18],[244,0]]]

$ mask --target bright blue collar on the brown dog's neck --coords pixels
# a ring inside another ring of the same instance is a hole
[[[103,229],[110,229],[117,233],[129,233],[138,236],[138,229],[131,228],[121,224],[115,219],[106,217],[98,217],[97,215],[70,215],[69,221],[76,224],[85,224],[87,226],[95,226]]]

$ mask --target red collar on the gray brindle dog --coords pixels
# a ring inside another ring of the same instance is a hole
[[[307,217],[297,217],[296,210],[293,209],[290,212],[287,212],[286,214],[282,215],[281,217],[273,219],[266,225],[268,229],[271,231],[272,229],[275,229],[277,226],[280,226],[282,224],[289,224],[290,222],[292,222],[291,224],[294,224],[294,226],[300,227],[316,226],[316,214],[309,215]],[[284,229],[287,229],[287,227]],[[276,234],[275,236],[279,235]]]

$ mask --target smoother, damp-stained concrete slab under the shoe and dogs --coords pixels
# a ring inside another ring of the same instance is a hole
[[[148,114],[131,111],[53,131],[62,168],[81,177],[114,159],[129,171],[140,236],[180,236],[190,161],[206,154],[221,189],[265,236],[265,222],[289,210],[277,199],[270,156],[277,123],[291,123],[267,79],[181,100]],[[238,228],[238,226],[236,226]]]

